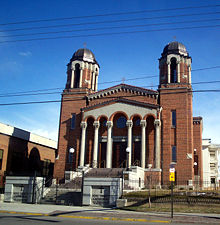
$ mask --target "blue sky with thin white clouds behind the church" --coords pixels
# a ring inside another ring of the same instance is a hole
[[[218,26],[220,25],[220,6],[157,12],[148,11],[144,13],[114,16],[85,17],[88,15],[218,4],[220,5],[219,1],[210,0],[2,1],[0,7],[0,104],[59,100],[61,98],[60,92],[62,91],[62,88],[64,88],[66,82],[66,64],[69,62],[73,53],[84,46],[84,43],[86,43],[87,48],[93,51],[101,67],[99,89],[121,83],[123,78],[133,79],[146,76],[156,77],[130,81],[125,80],[125,83],[157,89],[159,78],[158,58],[165,45],[174,40],[180,41],[186,46],[192,57],[192,69],[196,70],[220,66],[220,26]],[[3,25],[11,22],[67,17],[75,18],[71,20]],[[112,20],[129,21],[100,23],[102,21]],[[83,23],[83,25],[76,25],[79,23]],[[161,23],[166,24],[158,25]],[[9,31],[13,29],[67,24],[75,25]],[[112,28],[116,26],[136,27]],[[195,28],[199,26],[207,27]],[[194,28],[183,29],[184,27]],[[88,31],[88,29],[97,28],[102,29]],[[173,28],[176,29],[172,30]],[[84,29],[84,31],[65,32],[82,29]],[[161,29],[163,29],[163,31],[161,31]],[[62,33],[38,34],[35,36],[12,36],[58,31],[62,31]],[[103,33],[134,31],[136,32],[97,36],[97,34]],[[95,34],[95,36],[88,36],[91,34]],[[76,35],[81,37],[8,42],[30,38]],[[192,72],[192,83],[218,81],[220,80],[219,72],[220,68],[194,71]],[[105,83],[108,81],[120,82],[113,82],[110,84]],[[219,85],[220,83],[195,84],[193,85],[193,89],[220,89]],[[49,92],[58,93],[49,95],[1,97],[7,93],[51,88],[61,89],[51,90]],[[218,133],[220,127],[220,93],[194,93],[193,97],[193,114],[194,116],[203,117],[203,138],[211,138],[213,142],[220,143],[220,136]],[[0,106],[0,122],[17,126],[56,140],[58,134],[59,113],[60,103]]]

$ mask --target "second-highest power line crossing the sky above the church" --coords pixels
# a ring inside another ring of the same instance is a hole
[[[180,14],[180,15],[170,15],[170,16],[140,17],[140,18],[133,18],[133,19],[104,20],[104,21],[96,21],[96,22],[83,22],[83,23],[60,24],[60,25],[50,25],[50,26],[36,26],[36,27],[6,29],[6,30],[1,30],[0,32],[57,28],[57,27],[67,27],[67,26],[94,25],[94,24],[105,24],[105,23],[119,23],[119,22],[121,23],[121,22],[131,22],[131,21],[140,21],[140,20],[143,21],[143,20],[152,20],[152,19],[178,18],[178,17],[186,17],[186,16],[201,17],[201,15],[216,15],[216,14],[220,14],[220,12],[216,11],[216,12],[208,12],[208,13],[205,12],[205,13]]]

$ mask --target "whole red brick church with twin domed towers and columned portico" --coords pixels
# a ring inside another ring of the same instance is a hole
[[[98,91],[94,54],[77,50],[67,65],[54,177],[85,165],[139,166],[168,184],[172,163],[177,184],[202,181],[202,118],[193,117],[191,63],[186,47],[171,42],[159,59],[157,90],[119,84]]]

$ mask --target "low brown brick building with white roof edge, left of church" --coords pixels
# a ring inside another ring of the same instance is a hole
[[[0,123],[0,185],[6,175],[52,177],[57,142]]]

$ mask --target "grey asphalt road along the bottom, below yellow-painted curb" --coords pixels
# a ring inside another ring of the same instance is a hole
[[[76,224],[76,225],[143,225],[143,224],[168,224],[167,222],[136,222],[136,221],[114,221],[114,220],[96,220],[96,219],[79,219],[79,218],[71,218],[71,217],[54,217],[54,216],[33,216],[33,215],[22,215],[22,214],[10,214],[10,213],[0,213],[0,224],[1,225],[68,225],[68,224]],[[178,223],[172,223],[178,224]]]

